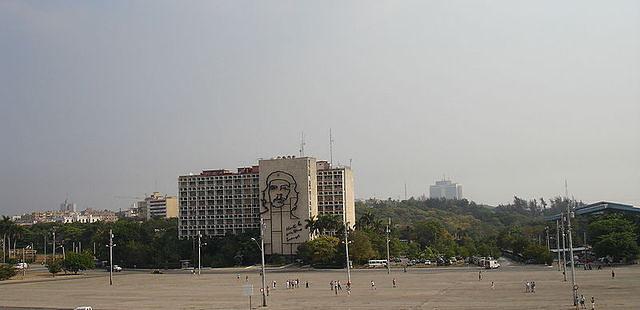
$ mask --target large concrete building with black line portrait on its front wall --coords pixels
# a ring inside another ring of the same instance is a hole
[[[313,238],[306,221],[322,214],[355,224],[353,173],[312,157],[284,156],[231,170],[178,177],[178,237],[225,236],[260,229],[265,253],[294,255]]]

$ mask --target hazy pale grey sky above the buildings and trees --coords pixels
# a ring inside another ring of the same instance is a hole
[[[0,213],[258,158],[640,205],[640,2],[0,1]]]

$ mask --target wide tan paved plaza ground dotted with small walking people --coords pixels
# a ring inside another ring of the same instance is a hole
[[[268,282],[269,309],[572,309],[571,282],[562,281],[556,268],[506,266],[483,270],[477,267],[352,271],[353,290],[337,295],[331,280],[346,283],[344,270],[272,270]],[[577,270],[580,294],[596,298],[596,309],[640,309],[640,267],[611,270]],[[240,280],[237,279],[240,273]],[[108,273],[91,271],[84,276],[37,277],[0,282],[0,308],[32,307],[73,309],[248,309],[243,296],[245,277],[254,286],[253,307],[261,303],[258,269],[206,270],[200,276],[187,271],[150,274],[130,271],[115,274],[109,286]],[[397,279],[397,288],[392,279]],[[285,289],[287,279],[299,279],[300,288]],[[371,281],[376,289],[371,289]],[[310,288],[305,288],[308,281]],[[495,288],[491,288],[491,281]],[[526,281],[536,282],[536,293],[525,293]],[[259,307],[258,307],[259,308]],[[590,305],[587,305],[590,309]]]

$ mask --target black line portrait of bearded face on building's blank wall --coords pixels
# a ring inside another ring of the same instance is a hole
[[[293,176],[284,171],[274,171],[267,177],[266,185],[262,191],[262,213],[280,209],[280,212],[289,212],[292,219],[297,219],[293,212],[298,208],[299,192]]]

